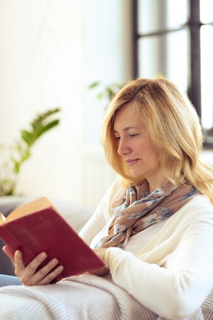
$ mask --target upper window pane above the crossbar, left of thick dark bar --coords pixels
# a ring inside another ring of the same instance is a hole
[[[179,28],[187,21],[187,0],[138,0],[138,32]]]

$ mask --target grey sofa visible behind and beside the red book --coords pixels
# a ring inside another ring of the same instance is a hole
[[[0,197],[0,212],[5,216],[10,214],[13,210],[20,207],[22,204],[36,199],[28,196],[3,196]],[[73,203],[71,201],[62,201],[50,199],[55,207],[58,209],[64,219],[74,228],[78,233],[84,224],[89,220],[93,208],[88,208],[86,205]],[[14,267],[10,259],[2,251],[5,245],[0,239],[0,274],[14,276]]]

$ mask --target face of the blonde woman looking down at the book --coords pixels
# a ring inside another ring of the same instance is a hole
[[[124,157],[132,176],[142,176],[150,181],[161,172],[159,153],[151,144],[143,121],[133,110],[132,104],[128,103],[115,117],[117,152]]]

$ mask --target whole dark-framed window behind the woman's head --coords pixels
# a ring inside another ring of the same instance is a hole
[[[213,147],[213,1],[134,0],[134,77],[169,78],[194,104]]]

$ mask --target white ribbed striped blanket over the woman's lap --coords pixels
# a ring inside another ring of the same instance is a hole
[[[184,320],[212,319],[211,296]],[[209,309],[210,308],[210,309]],[[206,311],[207,310],[207,311]],[[205,312],[206,311],[206,312]],[[203,316],[205,313],[206,316]],[[1,320],[167,320],[142,306],[110,275],[71,277],[49,286],[0,288]]]

